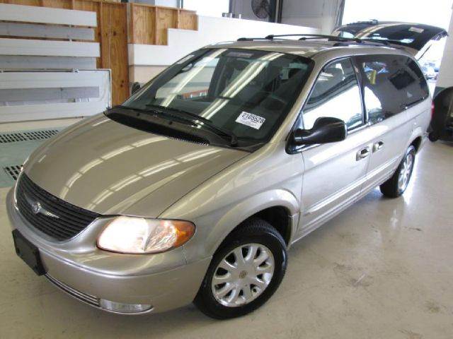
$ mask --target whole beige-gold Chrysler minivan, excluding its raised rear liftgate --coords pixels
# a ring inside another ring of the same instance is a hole
[[[292,243],[376,186],[403,194],[430,108],[401,46],[204,47],[30,155],[7,198],[16,252],[105,311],[247,314]]]

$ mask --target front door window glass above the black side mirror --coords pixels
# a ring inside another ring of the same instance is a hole
[[[363,124],[360,88],[349,58],[334,61],[323,68],[302,117],[304,129],[311,129],[320,117],[342,119],[348,131]]]

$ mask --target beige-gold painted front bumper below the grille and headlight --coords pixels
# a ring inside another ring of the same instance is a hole
[[[73,297],[100,309],[101,299],[149,304],[151,309],[146,313],[190,304],[210,263],[210,258],[186,263],[182,247],[149,255],[102,251],[96,247],[96,239],[105,220],[95,220],[67,242],[52,242],[18,213],[13,189],[6,205],[11,227],[38,247],[47,278]]]

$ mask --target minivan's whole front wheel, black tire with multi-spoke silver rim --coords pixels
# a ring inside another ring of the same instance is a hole
[[[214,319],[243,316],[274,294],[286,267],[280,233],[259,218],[247,220],[217,249],[194,303]]]

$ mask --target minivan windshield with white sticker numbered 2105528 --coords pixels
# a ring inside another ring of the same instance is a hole
[[[265,142],[294,105],[310,59],[251,49],[200,49],[156,76],[122,107],[195,121],[236,141]]]

